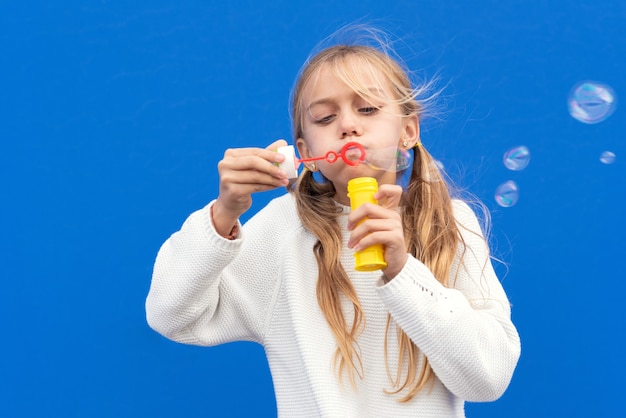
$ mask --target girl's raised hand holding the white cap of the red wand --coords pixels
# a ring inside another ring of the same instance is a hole
[[[252,205],[252,193],[286,186],[287,173],[275,165],[285,156],[276,152],[286,146],[279,139],[267,148],[233,148],[224,152],[217,164],[220,175],[220,194],[213,205],[213,224],[222,235],[230,234],[239,216]]]

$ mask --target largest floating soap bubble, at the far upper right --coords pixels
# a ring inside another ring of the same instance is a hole
[[[600,123],[615,111],[617,98],[613,89],[595,81],[578,83],[572,89],[567,106],[569,113],[583,123]]]

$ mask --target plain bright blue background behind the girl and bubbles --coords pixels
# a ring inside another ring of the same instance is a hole
[[[587,125],[566,99],[588,79],[624,96],[626,3],[102,0],[0,6],[0,416],[276,414],[261,347],[167,341],[144,299],[161,243],[216,196],[225,148],[289,139],[300,65],[363,18],[440,77],[423,142],[493,211],[523,354],[467,415],[623,409],[626,107]],[[509,171],[518,145],[530,165]],[[501,208],[507,180],[520,199]]]

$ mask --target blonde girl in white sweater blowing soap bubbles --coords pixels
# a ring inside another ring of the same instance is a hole
[[[187,344],[262,344],[280,416],[463,417],[464,401],[499,398],[519,337],[476,216],[420,143],[418,92],[380,48],[310,59],[292,97],[299,154],[412,148],[406,190],[394,171],[324,160],[290,183],[284,140],[227,150],[217,199],[159,251],[150,326]],[[365,176],[379,204],[351,210],[347,184]],[[252,193],[281,186],[241,226]],[[373,244],[386,267],[356,271],[353,253]]]

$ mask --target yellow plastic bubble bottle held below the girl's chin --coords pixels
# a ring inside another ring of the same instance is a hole
[[[378,191],[378,182],[373,177],[357,177],[348,182],[350,207],[355,210],[364,203],[378,204],[374,194]],[[362,221],[361,221],[362,222]],[[354,269],[357,271],[374,271],[387,267],[383,257],[382,244],[374,244],[354,253]]]

